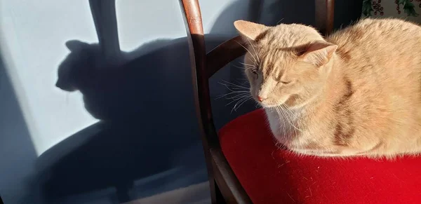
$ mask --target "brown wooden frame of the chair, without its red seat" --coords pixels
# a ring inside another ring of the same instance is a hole
[[[198,0],[180,0],[189,39],[196,111],[208,167],[212,203],[251,203],[222,153],[213,124],[208,79],[226,64],[246,54],[246,42],[236,36],[206,54]],[[322,33],[333,30],[333,0],[316,0],[316,24]]]

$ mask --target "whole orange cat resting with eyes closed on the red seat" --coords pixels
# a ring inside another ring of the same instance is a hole
[[[421,27],[363,19],[323,38],[313,27],[237,20],[250,95],[277,142],[299,155],[421,152]]]

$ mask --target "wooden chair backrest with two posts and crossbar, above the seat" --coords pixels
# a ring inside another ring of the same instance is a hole
[[[219,147],[210,105],[209,78],[226,64],[246,54],[241,36],[229,39],[206,54],[201,11],[198,0],[179,0],[189,41],[196,113],[205,151]],[[316,27],[322,34],[333,30],[334,0],[315,0]],[[234,26],[234,25],[233,25]]]

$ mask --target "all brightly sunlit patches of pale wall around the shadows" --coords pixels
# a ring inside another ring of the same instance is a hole
[[[201,1],[203,25],[208,33],[234,0]],[[246,15],[241,1],[228,15]],[[38,155],[97,120],[83,108],[80,93],[55,88],[57,67],[68,51],[69,39],[97,40],[88,1],[1,1],[0,48]],[[116,1],[122,50],[133,50],[159,38],[185,36],[178,1]],[[232,25],[232,20],[226,22]],[[223,26],[225,27],[225,26]],[[234,34],[233,28],[214,29]],[[1,100],[1,99],[0,99]]]

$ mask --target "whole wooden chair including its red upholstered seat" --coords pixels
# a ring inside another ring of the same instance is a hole
[[[246,53],[240,36],[206,54],[197,0],[180,0],[212,203],[421,203],[421,158],[326,159],[279,149],[262,109],[215,130],[208,80]],[[316,27],[333,29],[333,0],[316,0]]]

